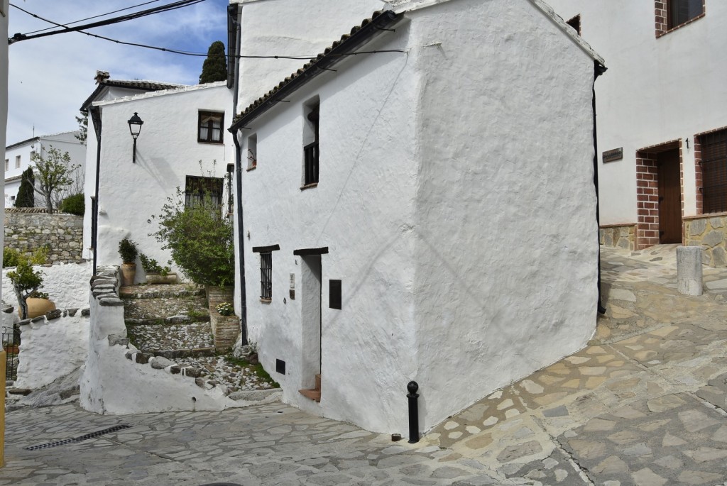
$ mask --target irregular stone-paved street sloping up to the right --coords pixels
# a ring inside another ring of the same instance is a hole
[[[603,248],[608,312],[589,345],[416,445],[280,403],[23,408],[7,415],[0,485],[727,485],[727,270],[705,269],[707,292],[682,296],[672,252]],[[23,450],[117,424],[131,427]]]

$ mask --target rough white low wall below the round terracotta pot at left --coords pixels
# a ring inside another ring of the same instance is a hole
[[[15,386],[40,388],[79,368],[88,355],[88,336],[89,318],[80,310],[75,316],[21,325]]]

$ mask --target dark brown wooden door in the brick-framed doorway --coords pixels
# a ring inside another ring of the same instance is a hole
[[[681,243],[681,182],[679,149],[658,155],[659,243]]]

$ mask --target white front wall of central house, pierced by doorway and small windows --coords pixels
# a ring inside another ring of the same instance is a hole
[[[401,25],[371,46],[402,49],[407,36]],[[403,53],[359,57],[336,69],[242,131],[245,143],[257,134],[257,169],[244,172],[242,190],[249,336],[286,402],[367,429],[401,432],[414,370],[417,83]],[[303,105],[315,96],[321,102],[320,177],[318,187],[300,190]],[[273,299],[265,304],[260,256],[252,247],[275,244],[281,249],[273,251]],[[293,251],[324,246],[318,405],[298,393],[313,387],[310,367],[318,349],[316,330],[303,325],[315,321],[302,312],[304,261]],[[291,275],[295,299],[289,297]],[[342,280],[341,310],[329,308],[330,279]],[[275,372],[276,359],[286,362],[286,376]]]

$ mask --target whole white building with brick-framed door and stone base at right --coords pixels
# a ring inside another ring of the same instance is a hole
[[[727,3],[548,0],[608,59],[598,94],[603,243],[703,244],[727,264]]]

